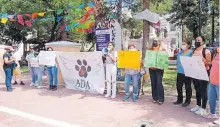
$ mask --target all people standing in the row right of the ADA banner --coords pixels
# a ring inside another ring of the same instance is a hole
[[[181,44],[181,51],[177,55],[177,101],[174,102],[174,105],[182,104],[182,107],[187,107],[191,103],[192,97],[192,86],[196,91],[196,102],[197,105],[190,109],[191,112],[194,112],[197,115],[204,116],[206,118],[217,118],[216,116],[216,100],[220,101],[219,91],[220,91],[220,80],[219,80],[219,44],[216,47],[216,50],[211,52],[209,49],[204,47],[205,38],[199,36],[196,38],[195,48],[192,49],[192,44],[188,40],[184,40]],[[104,63],[106,64],[106,83],[107,83],[107,94],[105,97],[109,97],[112,93],[112,98],[116,97],[116,55],[114,54],[114,44],[108,44],[108,54],[104,56]],[[129,51],[137,51],[134,44],[128,46]],[[154,51],[164,51],[161,41],[158,38],[155,38],[152,43],[152,47],[149,50]],[[187,77],[185,75],[183,65],[181,64],[181,56],[200,56],[207,74],[210,78],[210,81],[194,79]],[[142,61],[140,61],[142,63]],[[143,64],[142,64],[143,65]],[[146,68],[145,68],[146,69]],[[159,69],[155,67],[149,68],[150,80],[151,80],[151,90],[152,90],[152,99],[153,103],[162,105],[164,103],[164,88],[163,88],[163,73],[164,69]],[[133,85],[133,95],[132,101],[136,102],[138,100],[138,90],[140,89],[139,80],[143,74],[140,70],[134,69],[125,69],[125,97],[123,101],[127,101],[130,98],[129,86],[132,82]],[[186,99],[183,99],[183,85],[186,89]],[[210,113],[207,113],[206,106],[207,101],[210,105]],[[184,103],[183,103],[184,102]],[[219,124],[219,120],[214,121],[215,124]]]

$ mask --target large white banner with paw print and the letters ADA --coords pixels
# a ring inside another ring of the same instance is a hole
[[[102,52],[56,52],[68,89],[103,94],[105,89]]]

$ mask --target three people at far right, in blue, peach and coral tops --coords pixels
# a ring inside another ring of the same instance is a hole
[[[174,102],[175,105],[183,103],[183,93],[182,87],[185,84],[186,89],[186,100],[182,107],[186,107],[191,102],[192,88],[191,83],[194,84],[196,91],[196,106],[190,109],[197,115],[204,116],[206,118],[217,118],[216,115],[216,100],[220,101],[219,91],[220,91],[220,80],[219,80],[219,42],[217,44],[215,51],[210,51],[204,47],[205,38],[199,36],[196,38],[195,49],[191,49],[191,43],[187,40],[182,42],[180,53],[177,56],[177,101]],[[180,61],[181,56],[200,56],[207,74],[209,76],[209,81],[194,79],[185,76],[183,66]],[[207,113],[206,107],[209,101],[210,113]],[[219,124],[219,119],[214,121],[215,124]]]

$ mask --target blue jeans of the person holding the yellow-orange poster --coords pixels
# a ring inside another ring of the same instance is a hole
[[[139,88],[139,74],[134,74],[134,75],[130,75],[130,74],[125,74],[125,94],[129,95],[130,91],[129,91],[129,85],[131,83],[132,80],[132,84],[133,84],[133,95],[138,95],[138,88]]]

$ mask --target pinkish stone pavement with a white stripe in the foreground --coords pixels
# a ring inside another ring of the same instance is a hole
[[[106,99],[63,87],[52,92],[29,85],[16,85],[8,93],[2,84],[0,127],[132,127],[140,120],[152,122],[152,127],[215,126],[189,112],[194,104],[187,108],[173,105],[173,97],[166,97],[163,105],[157,105],[150,95],[141,96],[135,103],[123,102],[123,96],[118,93],[116,99]]]

